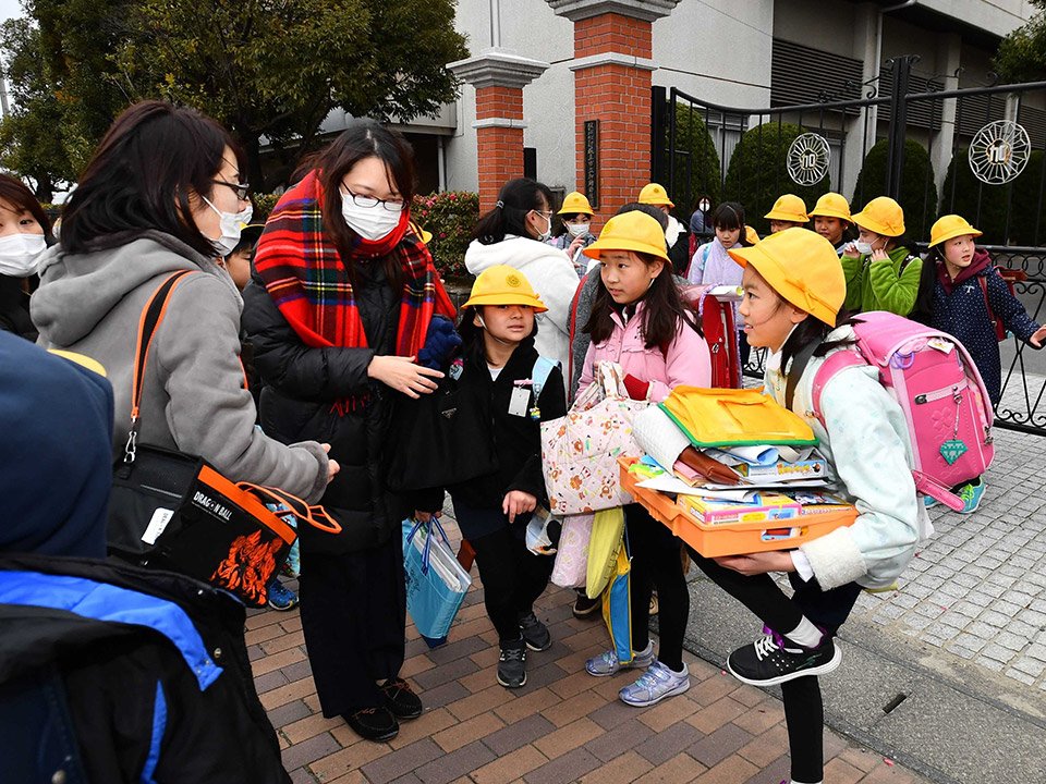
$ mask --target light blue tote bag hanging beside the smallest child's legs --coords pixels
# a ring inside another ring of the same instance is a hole
[[[403,520],[403,571],[406,611],[429,647],[435,647],[446,640],[472,585],[435,517],[428,523]]]

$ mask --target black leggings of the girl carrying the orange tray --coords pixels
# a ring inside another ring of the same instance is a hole
[[[799,626],[805,616],[835,636],[861,595],[861,586],[856,583],[826,591],[822,590],[816,579],[803,581],[792,572],[789,573],[789,580],[795,592],[790,598],[767,574],[750,577],[720,566],[694,551],[691,551],[691,556],[709,579],[782,635]],[[782,683],[781,696],[788,725],[788,748],[792,758],[792,779],[819,782],[825,775],[825,706],[817,676],[808,675]]]

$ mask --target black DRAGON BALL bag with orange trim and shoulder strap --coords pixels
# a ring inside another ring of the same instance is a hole
[[[168,299],[187,274],[188,270],[175,272],[160,285],[138,324],[131,431],[113,467],[109,497],[109,553],[139,566],[195,577],[244,604],[265,607],[268,584],[297,536],[265,504],[283,504],[300,520],[330,534],[340,532],[341,526],[323,507],[290,493],[233,482],[203,457],[137,442],[149,347]]]

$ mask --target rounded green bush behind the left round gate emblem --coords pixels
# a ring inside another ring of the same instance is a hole
[[[805,128],[791,123],[756,125],[741,136],[730,159],[723,197],[744,205],[747,222],[763,236],[770,211],[779,196],[795,194],[812,209],[817,198],[828,193],[829,177],[814,185],[799,185],[788,174],[788,148]]]

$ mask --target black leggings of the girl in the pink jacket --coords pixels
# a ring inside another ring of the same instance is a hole
[[[632,649],[641,651],[650,641],[650,593],[656,587],[657,658],[679,672],[683,669],[683,635],[690,620],[681,542],[640,504],[624,507],[624,522],[632,554]]]

